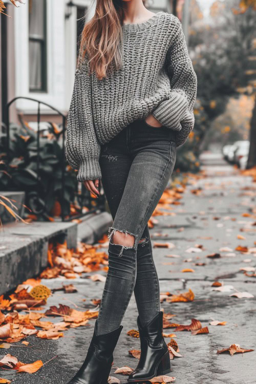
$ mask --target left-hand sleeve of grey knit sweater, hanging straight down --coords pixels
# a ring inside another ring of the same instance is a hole
[[[100,144],[92,116],[91,79],[85,68],[83,65],[75,72],[67,122],[66,158],[74,169],[78,169],[78,181],[101,179]]]

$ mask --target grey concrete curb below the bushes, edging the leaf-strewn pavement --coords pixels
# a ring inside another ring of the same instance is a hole
[[[108,212],[92,214],[77,223],[8,223],[0,232],[0,295],[34,278],[47,266],[49,241],[75,249],[78,241],[93,244],[112,224]]]

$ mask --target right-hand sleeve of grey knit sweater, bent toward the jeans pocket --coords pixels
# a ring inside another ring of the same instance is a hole
[[[176,145],[185,142],[193,130],[193,107],[197,95],[197,76],[188,55],[185,36],[178,17],[174,16],[176,34],[166,53],[170,96],[152,112],[153,116],[170,129],[176,130]]]

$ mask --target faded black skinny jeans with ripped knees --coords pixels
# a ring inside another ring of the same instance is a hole
[[[136,120],[101,145],[102,186],[113,226],[109,228],[109,270],[103,290],[98,334],[121,324],[134,291],[141,324],[160,311],[159,281],[147,222],[172,175],[175,131]],[[134,236],[134,246],[112,242],[115,231]],[[141,240],[141,242],[139,242]]]

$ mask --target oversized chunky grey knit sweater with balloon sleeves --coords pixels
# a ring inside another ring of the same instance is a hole
[[[79,181],[101,179],[100,144],[149,114],[176,130],[177,146],[193,129],[197,77],[179,19],[158,12],[122,26],[122,67],[99,80],[78,64],[68,114],[66,157]]]

